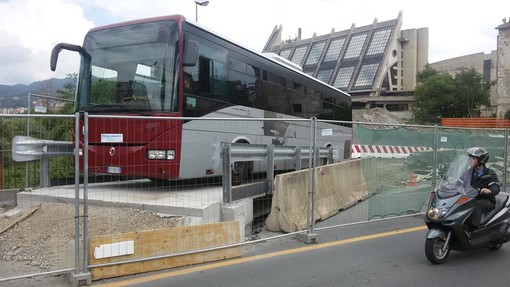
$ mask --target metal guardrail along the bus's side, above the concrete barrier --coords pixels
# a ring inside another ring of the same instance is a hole
[[[294,169],[301,170],[302,160],[309,159],[310,154],[314,159],[314,165],[319,166],[321,159],[327,159],[327,163],[332,163],[335,156],[338,156],[338,151],[332,147],[315,148],[315,152],[310,152],[309,147],[222,143],[223,202],[231,203],[250,196],[272,194],[275,161],[293,160]],[[267,161],[266,179],[252,184],[232,186],[232,164],[236,161]]]

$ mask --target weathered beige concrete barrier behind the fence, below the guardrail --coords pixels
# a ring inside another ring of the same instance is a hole
[[[308,170],[275,177],[268,230],[294,232],[308,227],[308,182]],[[365,200],[368,185],[359,159],[316,168],[314,220],[324,220]]]

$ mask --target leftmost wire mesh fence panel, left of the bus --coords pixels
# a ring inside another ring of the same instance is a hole
[[[45,202],[36,195],[42,182],[74,184],[72,158],[53,152],[32,161],[12,157],[13,138],[71,141],[72,122],[71,115],[0,116],[0,280],[75,269],[74,203]]]

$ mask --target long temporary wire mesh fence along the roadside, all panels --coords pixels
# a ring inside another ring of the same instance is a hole
[[[304,153],[318,154],[319,147],[331,146],[335,162],[349,156],[359,161],[367,189],[364,200],[331,212],[327,221],[321,218],[321,228],[421,212],[449,160],[471,146],[486,147],[491,153],[489,166],[501,181],[507,178],[506,130],[263,117],[81,114],[79,119],[74,126],[72,116],[0,116],[0,282],[89,270],[94,279],[107,278],[112,276],[108,267],[114,264],[130,264],[142,271],[144,265],[167,268],[187,262],[183,256],[193,253],[209,254],[203,262],[217,260],[221,256],[210,255],[216,250],[227,250],[222,251],[224,258],[240,256],[240,246],[258,242],[273,206],[273,190],[261,195],[260,186],[250,187],[265,180],[267,170],[279,174],[312,167],[313,172],[304,175],[306,184],[293,191],[305,198],[295,208],[308,229],[289,235],[313,234],[318,208],[314,205],[323,204],[315,198],[320,191],[315,190],[314,180],[320,179],[314,176],[322,176],[325,169],[320,165],[328,162],[326,157],[311,160]],[[129,129],[121,134],[120,126]],[[152,137],[158,129],[161,135]],[[12,158],[16,136],[71,142],[73,132],[81,134],[81,149],[75,149],[76,158],[48,158],[48,187],[41,188],[44,167],[39,160]],[[268,147],[265,156],[275,164],[268,167],[256,150],[248,149],[246,158],[229,163],[232,190],[253,188],[253,192],[228,202],[219,175],[225,169],[222,144],[230,143]],[[153,152],[145,152],[145,146]],[[172,153],[168,146],[181,151]],[[312,148],[275,154],[280,146]],[[137,156],[120,157],[124,150]],[[296,158],[290,159],[291,154]],[[181,163],[167,165],[166,157]],[[343,174],[332,176],[342,179]],[[19,215],[11,216],[13,210]]]

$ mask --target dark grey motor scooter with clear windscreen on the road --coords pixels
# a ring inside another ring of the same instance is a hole
[[[496,207],[482,215],[478,229],[470,231],[467,220],[473,213],[479,190],[471,186],[472,170],[467,154],[455,156],[437,190],[429,196],[425,223],[429,229],[425,255],[433,264],[444,263],[451,250],[469,251],[479,248],[498,250],[510,241],[509,194],[496,196]],[[487,183],[490,175],[481,178]]]

